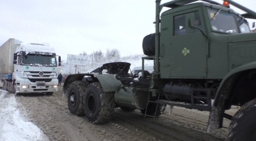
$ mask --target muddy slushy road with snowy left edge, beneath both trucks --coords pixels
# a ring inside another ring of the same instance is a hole
[[[167,107],[164,114],[156,119],[144,117],[140,110],[124,112],[116,108],[110,122],[92,124],[84,116],[70,114],[67,99],[62,97],[62,87],[58,88],[59,91],[52,96],[45,94],[14,96],[1,90],[0,124],[4,126],[0,128],[0,141],[219,141],[227,138],[230,121],[224,119],[223,128],[207,133],[205,130],[209,112],[181,107],[174,107],[170,115],[170,107]],[[234,107],[228,110],[228,113],[234,114],[237,109]]]

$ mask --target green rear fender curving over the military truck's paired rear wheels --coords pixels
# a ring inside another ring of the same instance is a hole
[[[69,75],[65,80],[63,85],[63,97],[67,96],[67,89],[69,85],[76,80],[83,80],[84,77],[91,77],[92,82],[100,82],[104,92],[116,91],[116,89],[122,85],[120,80],[117,80],[114,75],[111,74],[97,74],[97,73],[79,73],[74,75]]]

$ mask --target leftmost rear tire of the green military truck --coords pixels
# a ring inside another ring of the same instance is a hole
[[[75,115],[84,115],[83,96],[87,88],[86,82],[74,81],[68,87],[68,110]]]

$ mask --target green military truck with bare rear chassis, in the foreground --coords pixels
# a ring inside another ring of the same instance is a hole
[[[156,0],[156,33],[143,39],[142,58],[142,66],[145,59],[154,61],[153,74],[142,71],[135,80],[129,63],[108,63],[96,73],[68,76],[63,94],[70,112],[102,124],[116,107],[152,117],[166,105],[194,108],[210,112],[207,131],[221,128],[227,118],[228,140],[255,140],[256,33],[246,19],[256,19],[256,13],[231,0],[193,2]],[[232,105],[241,108],[225,114]]]

